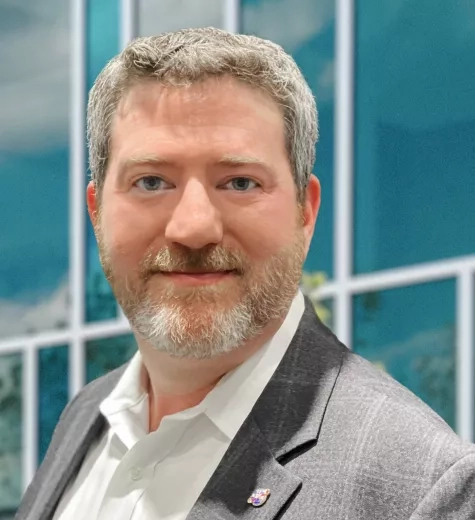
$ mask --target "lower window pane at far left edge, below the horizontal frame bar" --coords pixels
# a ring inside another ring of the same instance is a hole
[[[15,513],[23,493],[22,372],[22,354],[0,356],[0,517]]]

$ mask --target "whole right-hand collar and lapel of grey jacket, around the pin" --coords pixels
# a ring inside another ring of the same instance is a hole
[[[285,463],[318,441],[345,352],[307,301],[282,362],[188,520],[271,520],[279,514],[302,485]],[[271,492],[260,508],[247,503],[257,488]]]

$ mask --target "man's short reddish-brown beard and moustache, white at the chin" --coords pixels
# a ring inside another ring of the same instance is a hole
[[[132,329],[154,349],[176,358],[206,359],[239,348],[282,319],[297,292],[305,258],[303,232],[260,264],[220,245],[149,252],[124,276],[97,230],[106,277]],[[167,272],[229,272],[215,284],[183,287]]]

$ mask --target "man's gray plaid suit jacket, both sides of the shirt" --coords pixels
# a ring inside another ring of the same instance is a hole
[[[124,368],[86,386],[58,423],[17,520],[47,520]],[[261,508],[247,504],[269,488]],[[311,305],[190,520],[475,519],[475,446],[393,379],[349,352]]]

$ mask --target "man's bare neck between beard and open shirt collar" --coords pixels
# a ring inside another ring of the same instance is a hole
[[[156,430],[166,415],[198,405],[224,375],[257,352],[282,321],[269,324],[236,350],[211,359],[171,357],[137,338],[149,393],[150,431]]]

